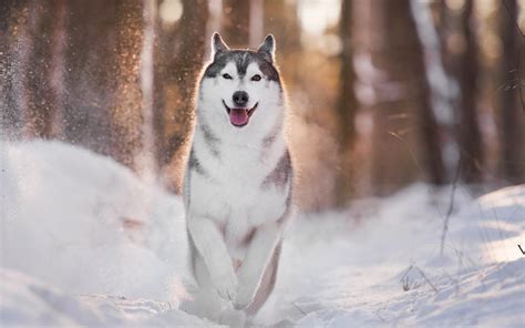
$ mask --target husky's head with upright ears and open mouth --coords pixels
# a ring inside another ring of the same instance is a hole
[[[200,81],[199,114],[230,129],[271,125],[282,114],[282,88],[275,66],[275,39],[257,51],[230,50],[218,33],[212,39],[213,61]]]

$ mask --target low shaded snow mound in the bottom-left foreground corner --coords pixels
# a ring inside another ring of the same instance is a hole
[[[2,327],[210,327],[167,301],[114,296],[71,296],[27,275],[0,269]]]

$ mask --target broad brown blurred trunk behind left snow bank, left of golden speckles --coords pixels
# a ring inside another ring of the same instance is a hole
[[[64,127],[61,139],[111,154],[110,112],[115,90],[113,69],[114,1],[68,3],[64,53]]]

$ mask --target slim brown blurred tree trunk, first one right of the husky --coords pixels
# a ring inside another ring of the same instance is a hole
[[[339,99],[337,116],[339,122],[339,174],[336,185],[336,206],[343,207],[352,195],[351,151],[356,141],[356,112],[358,103],[353,89],[356,73],[353,71],[353,1],[341,1],[340,38],[342,51],[340,54],[341,71],[339,74]]]

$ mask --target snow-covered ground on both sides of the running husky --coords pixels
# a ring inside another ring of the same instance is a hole
[[[178,310],[193,281],[181,199],[59,142],[0,150],[0,326],[213,326]],[[256,325],[525,326],[525,185],[472,199],[423,184],[299,215]],[[456,211],[457,209],[457,211]]]

